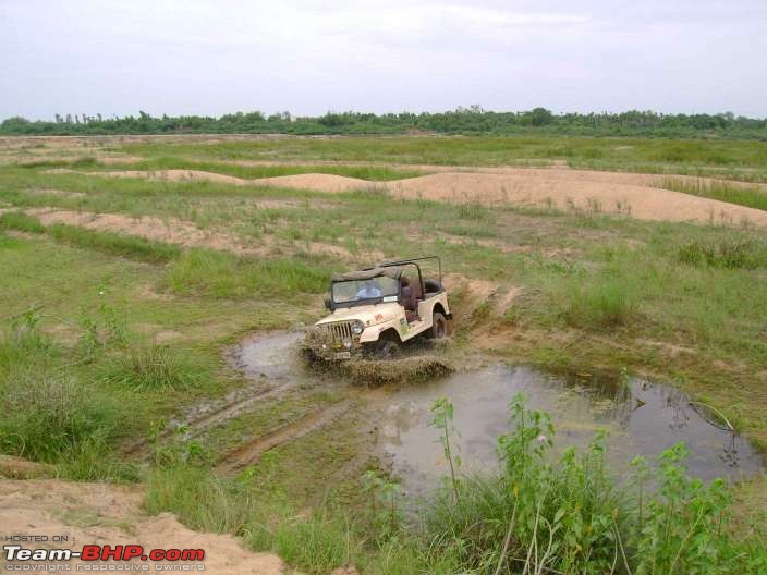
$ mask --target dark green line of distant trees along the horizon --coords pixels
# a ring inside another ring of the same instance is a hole
[[[236,112],[221,117],[161,115],[141,111],[137,117],[56,114],[53,121],[9,118],[2,135],[109,134],[406,134],[513,135],[525,133],[583,136],[725,137],[767,139],[767,119],[719,114],[662,114],[631,110],[620,113],[561,113],[546,108],[523,112],[494,112],[479,106],[447,112],[362,113],[327,112],[294,117],[290,112]]]

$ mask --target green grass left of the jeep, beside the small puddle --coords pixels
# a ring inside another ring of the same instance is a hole
[[[165,267],[46,235],[0,234],[0,448],[56,463],[69,477],[135,478],[135,469],[112,456],[115,448],[145,437],[150,421],[236,384],[220,362],[232,333],[301,317],[295,309],[285,315],[296,294],[279,292],[303,281],[291,279],[287,262],[257,268],[271,270],[268,286],[277,292],[200,306],[197,296],[143,294],[159,290]],[[275,301],[278,293],[285,299]],[[16,326],[27,316],[34,329]],[[176,341],[153,342],[163,331]]]

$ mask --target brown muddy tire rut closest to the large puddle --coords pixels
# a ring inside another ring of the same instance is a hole
[[[238,472],[258,461],[267,451],[326,427],[348,412],[351,405],[352,400],[344,400],[326,409],[308,413],[291,424],[263,433],[227,453],[223,461],[218,465],[217,470],[224,474]]]

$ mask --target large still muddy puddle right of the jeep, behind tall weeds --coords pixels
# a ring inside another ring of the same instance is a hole
[[[508,402],[516,393],[525,394],[529,408],[551,414],[559,449],[587,445],[595,432],[607,431],[608,461],[618,473],[635,455],[653,460],[680,441],[690,449],[690,473],[702,479],[738,479],[762,469],[745,440],[709,424],[674,388],[497,366],[391,393],[380,437],[394,473],[409,488],[428,488],[447,470],[439,432],[428,426],[431,403],[441,396],[455,407],[464,469],[495,467],[496,441],[509,429]]]

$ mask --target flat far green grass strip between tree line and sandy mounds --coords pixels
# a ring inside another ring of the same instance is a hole
[[[146,157],[215,160],[333,160],[498,166],[567,160],[575,168],[715,173],[765,181],[767,143],[721,139],[588,138],[562,136],[355,137],[255,142],[142,143],[121,147]]]

